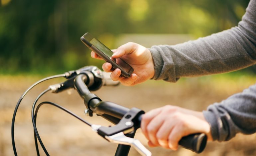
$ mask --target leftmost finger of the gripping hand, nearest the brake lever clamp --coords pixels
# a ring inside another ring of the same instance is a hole
[[[140,127],[141,127],[141,130],[142,130],[143,134],[146,136],[146,138],[147,138],[148,140],[150,140],[150,139],[149,139],[148,132],[147,132],[147,129],[146,129],[146,128],[147,128],[149,122],[150,122],[155,116],[157,116],[161,111],[162,111],[162,108],[157,108],[157,109],[154,109],[154,110],[149,111],[148,113],[146,113],[146,114],[144,114],[144,115],[142,116]]]

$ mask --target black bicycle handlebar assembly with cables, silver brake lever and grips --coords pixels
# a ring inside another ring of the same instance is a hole
[[[13,119],[12,119],[12,146],[14,154],[17,156],[15,140],[14,140],[14,123],[16,113],[18,111],[19,105],[25,95],[36,85],[41,82],[44,82],[49,79],[64,77],[67,80],[58,83],[55,85],[49,86],[48,89],[43,91],[34,101],[32,106],[32,123],[34,127],[34,138],[35,138],[35,145],[37,155],[39,153],[38,142],[40,143],[41,147],[43,148],[46,155],[50,155],[44,146],[40,135],[38,133],[36,127],[36,119],[38,110],[42,105],[49,104],[55,106],[68,114],[76,117],[77,119],[81,120],[85,124],[91,126],[92,130],[97,132],[100,136],[112,143],[118,143],[118,147],[115,153],[115,156],[127,156],[130,150],[130,147],[133,146],[141,155],[150,156],[151,152],[144,147],[144,145],[137,139],[134,139],[134,135],[136,130],[140,128],[141,117],[145,113],[144,111],[138,108],[131,108],[128,109],[126,107],[120,106],[118,104],[102,101],[97,95],[92,94],[90,91],[95,91],[101,88],[103,85],[118,85],[118,82],[112,81],[109,77],[109,74],[102,72],[96,66],[85,66],[78,70],[68,71],[64,74],[54,75],[38,82],[34,83],[31,87],[29,87],[20,97],[16,108],[14,110]],[[59,93],[61,91],[74,88],[78,94],[84,100],[84,104],[86,106],[85,114],[89,117],[93,116],[95,113],[97,116],[101,116],[108,121],[115,124],[115,126],[105,127],[101,125],[95,125],[87,122],[86,120],[78,117],[74,113],[68,111],[64,107],[52,103],[52,102],[42,102],[37,107],[36,104],[38,100],[47,92],[52,91],[53,93]],[[38,139],[38,141],[37,141]],[[190,149],[196,153],[201,153],[207,143],[207,136],[204,133],[197,133],[191,134],[188,136],[183,137],[179,141],[179,145],[183,146],[184,148]]]

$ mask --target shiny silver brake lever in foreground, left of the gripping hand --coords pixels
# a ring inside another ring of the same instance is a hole
[[[98,129],[101,125],[91,125],[93,131],[98,132]],[[105,135],[104,138],[111,143],[118,143],[123,145],[133,146],[141,155],[143,156],[151,156],[151,152],[138,140],[134,138],[130,138],[124,135],[123,132],[119,132],[114,135]]]

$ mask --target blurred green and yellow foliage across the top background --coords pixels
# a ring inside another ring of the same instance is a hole
[[[241,20],[249,0],[0,0],[0,73],[98,65],[79,38],[110,48],[123,33],[207,36]]]

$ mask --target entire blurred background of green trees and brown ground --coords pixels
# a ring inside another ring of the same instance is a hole
[[[10,123],[21,94],[35,81],[85,65],[101,68],[80,37],[90,32],[109,48],[129,42],[146,47],[177,44],[237,26],[249,0],[0,0],[0,155],[13,155]],[[35,155],[31,106],[51,84],[32,90],[17,114],[15,138],[18,154]],[[182,78],[172,84],[147,81],[134,87],[105,87],[96,91],[103,100],[145,111],[167,104],[202,111],[214,102],[255,83],[255,69]],[[118,97],[118,98],[117,98]],[[154,97],[154,98],[150,98]],[[74,90],[51,100],[84,117],[83,101]],[[46,106],[47,107],[47,106]],[[51,155],[113,155],[116,145],[98,137],[87,126],[52,107],[42,109],[38,129]],[[109,123],[92,117],[92,123]],[[147,141],[139,131],[137,136]],[[239,134],[228,142],[210,142],[200,155],[256,155],[256,135]],[[153,155],[196,155],[149,148]],[[41,151],[42,152],[42,151]],[[138,155],[132,149],[131,155]]]

